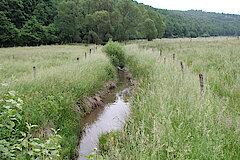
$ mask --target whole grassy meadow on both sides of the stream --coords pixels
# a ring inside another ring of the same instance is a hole
[[[104,159],[240,159],[237,38],[130,41],[125,50],[126,65],[138,85],[125,127],[100,139]],[[24,120],[38,125],[35,136],[61,129],[60,159],[74,158],[81,117],[90,111],[77,102],[115,78],[101,47],[0,48],[0,83],[7,84],[1,91],[14,90],[24,101]]]

